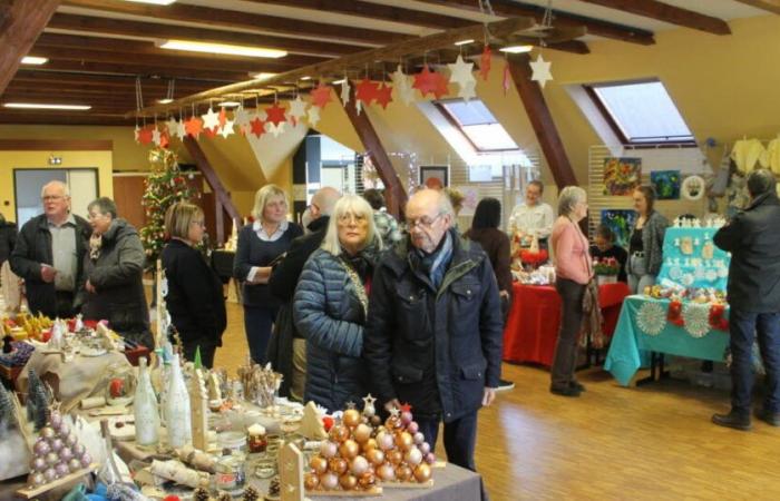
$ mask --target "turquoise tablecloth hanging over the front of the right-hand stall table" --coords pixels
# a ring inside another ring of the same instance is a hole
[[[637,315],[645,303],[657,303],[663,311],[669,310],[669,299],[652,299],[644,296],[628,296],[623,303],[615,334],[604,369],[624,386],[631,383],[642,365],[642,352],[667,353],[691,358],[724,361],[729,346],[729,333],[710,330],[702,337],[694,337],[669,322],[657,335],[650,335],[640,327]],[[727,310],[728,317],[728,310]]]

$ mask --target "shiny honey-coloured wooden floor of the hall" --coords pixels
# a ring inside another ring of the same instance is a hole
[[[228,303],[216,365],[233,373],[246,353],[241,307]],[[587,392],[565,399],[548,393],[542,369],[505,364],[504,376],[516,387],[480,412],[477,439],[494,501],[780,499],[780,429],[711,424],[725,392],[679,381],[624,389],[591,370],[579,374]]]

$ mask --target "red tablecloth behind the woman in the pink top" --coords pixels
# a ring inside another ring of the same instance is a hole
[[[598,287],[604,334],[612,336],[628,286],[618,282]],[[504,360],[553,365],[560,324],[560,297],[552,285],[514,284],[514,298],[504,330]]]

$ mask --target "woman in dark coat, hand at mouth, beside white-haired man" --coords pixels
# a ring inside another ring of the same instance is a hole
[[[81,312],[86,318],[107,320],[126,340],[154,350],[149,308],[144,294],[144,246],[138,232],[117,218],[117,206],[101,197],[89,204],[89,254],[85,256]]]

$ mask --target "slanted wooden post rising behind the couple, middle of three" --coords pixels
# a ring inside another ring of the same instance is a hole
[[[363,143],[368,155],[371,157],[371,161],[377,168],[377,173],[379,173],[379,177],[384,184],[384,202],[387,203],[388,213],[392,214],[396,218],[400,218],[403,206],[407,203],[407,193],[401,185],[398,173],[396,173],[390,161],[390,157],[387,151],[384,151],[382,141],[379,140],[377,130],[373,128],[373,125],[371,125],[368,115],[365,115],[365,110],[358,114],[358,110],[354,108],[354,85],[355,82],[351,82],[350,102],[344,106],[344,111],[347,111],[352,127],[354,127],[354,130],[358,132],[358,137]],[[338,92],[333,94],[339,97],[339,102],[343,106],[341,96]]]

